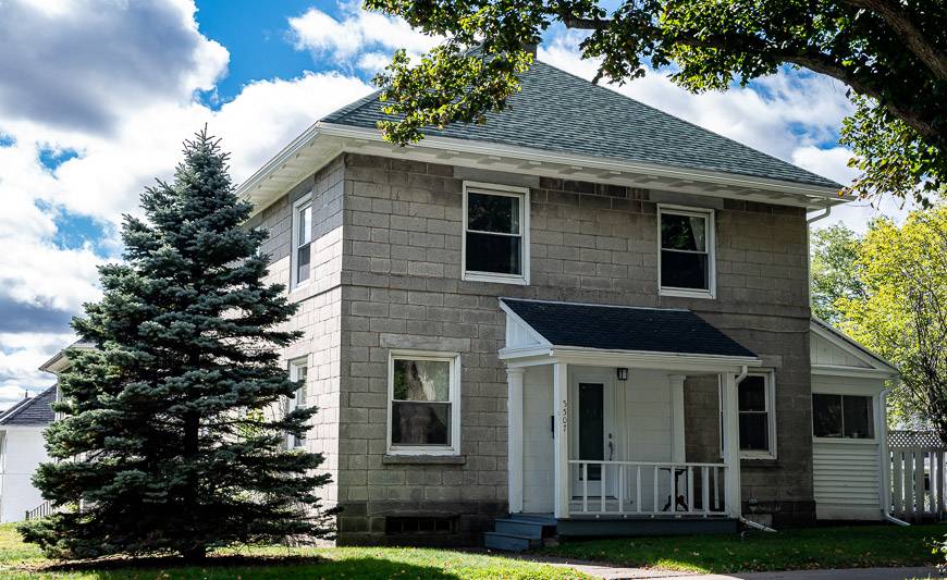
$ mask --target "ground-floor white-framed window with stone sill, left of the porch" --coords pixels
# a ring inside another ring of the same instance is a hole
[[[460,355],[393,350],[388,374],[389,453],[457,455]]]

